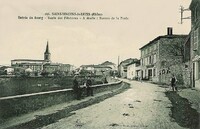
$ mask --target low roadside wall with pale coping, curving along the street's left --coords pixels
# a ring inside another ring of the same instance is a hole
[[[92,88],[95,95],[103,91],[111,91],[120,88],[121,85],[122,82],[118,81],[108,84],[93,85]],[[69,102],[74,99],[75,97],[72,89],[2,97],[0,98],[0,123],[12,116],[25,114],[59,103]]]

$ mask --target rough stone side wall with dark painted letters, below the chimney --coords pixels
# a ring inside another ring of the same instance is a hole
[[[169,84],[172,74],[183,85],[183,44],[187,36],[161,38],[159,41],[158,80],[159,83]]]

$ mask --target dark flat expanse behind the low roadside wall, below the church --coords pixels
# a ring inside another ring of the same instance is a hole
[[[103,76],[92,76],[92,84],[102,84]],[[85,76],[78,76],[79,84]],[[44,91],[72,88],[73,76],[63,77],[0,77],[0,97],[30,94]]]

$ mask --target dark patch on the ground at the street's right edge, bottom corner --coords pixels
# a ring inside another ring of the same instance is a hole
[[[169,91],[165,92],[165,94],[172,102],[171,117],[175,122],[182,127],[199,129],[200,114],[195,109],[191,108],[191,103],[176,92]]]

